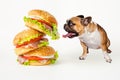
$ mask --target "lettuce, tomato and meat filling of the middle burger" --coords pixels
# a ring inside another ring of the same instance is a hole
[[[42,47],[42,46],[47,46],[48,39],[44,38],[43,36],[30,36],[26,37],[18,42],[16,45],[16,48],[19,47],[24,47],[24,48],[33,48],[33,47]]]

